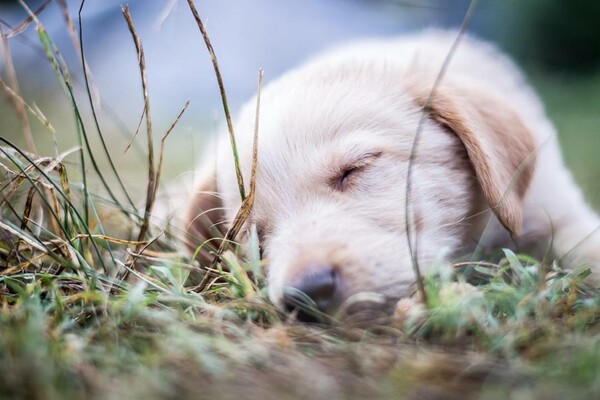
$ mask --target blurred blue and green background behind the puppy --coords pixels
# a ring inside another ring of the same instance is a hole
[[[46,0],[25,0],[32,10]],[[39,21],[69,66],[84,125],[98,146],[84,76],[63,11],[51,1]],[[78,33],[79,0],[68,10]],[[336,44],[391,37],[427,26],[460,25],[469,0],[203,0],[196,1],[219,59],[232,110],[265,81]],[[117,168],[144,196],[145,133],[126,151],[143,111],[135,47],[120,0],[87,0],[81,7],[83,50],[99,124]],[[155,144],[182,106],[190,106],[165,148],[163,183],[185,176],[224,124],[212,64],[185,0],[130,0],[143,42]],[[23,98],[39,107],[56,132],[28,115],[39,153],[54,155],[77,144],[73,109],[28,14],[15,0],[0,1],[0,76],[11,84],[14,64]],[[600,2],[591,0],[480,0],[469,31],[495,42],[516,59],[540,93],[563,144],[567,164],[590,202],[600,209]],[[24,28],[24,29],[23,29]],[[25,146],[21,121],[0,90],[0,136]],[[209,149],[210,150],[210,149]],[[69,160],[76,162],[76,157]],[[103,168],[106,160],[99,157]],[[549,194],[551,195],[551,194]]]

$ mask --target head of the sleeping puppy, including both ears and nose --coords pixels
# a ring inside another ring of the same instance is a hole
[[[451,84],[430,96],[430,81],[357,63],[308,67],[263,91],[251,222],[277,305],[292,305],[294,293],[304,292],[332,313],[364,292],[382,300],[407,295],[414,283],[407,217],[425,267],[442,249],[460,248],[480,198],[507,230],[519,232],[532,135],[493,96]],[[246,182],[253,106],[236,123]],[[213,178],[203,190],[218,191],[222,218],[231,221],[240,199],[226,141]],[[207,199],[215,197],[193,199],[190,215],[215,208],[203,204]]]

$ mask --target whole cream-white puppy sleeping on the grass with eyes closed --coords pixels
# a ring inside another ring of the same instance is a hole
[[[304,292],[325,313],[359,293],[397,301],[442,252],[509,247],[600,267],[600,219],[585,203],[540,100],[504,55],[426,31],[325,54],[270,83],[260,107],[256,224],[269,294]],[[249,182],[255,103],[234,121]],[[416,151],[411,159],[415,134]],[[227,135],[190,199],[195,239],[228,225],[240,194]],[[412,173],[408,178],[409,162]],[[219,225],[220,224],[220,225]],[[291,290],[287,290],[290,288]],[[291,295],[289,293],[292,293]]]

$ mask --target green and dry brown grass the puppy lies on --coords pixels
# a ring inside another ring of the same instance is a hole
[[[110,156],[86,145],[101,126],[81,117],[68,68],[37,28],[71,104],[80,162],[26,152],[0,132],[3,398],[600,396],[600,296],[585,266],[565,272],[505,250],[495,263],[435,265],[426,307],[302,325],[268,301],[252,235],[246,251],[194,262],[179,232],[147,223],[152,204],[127,200],[117,168],[106,179],[94,168]]]

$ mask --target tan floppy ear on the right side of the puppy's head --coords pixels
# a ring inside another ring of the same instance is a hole
[[[518,235],[521,200],[535,166],[533,134],[510,104],[481,88],[442,83],[430,98],[432,85],[423,82],[412,81],[408,92],[462,141],[485,199],[502,225]]]

